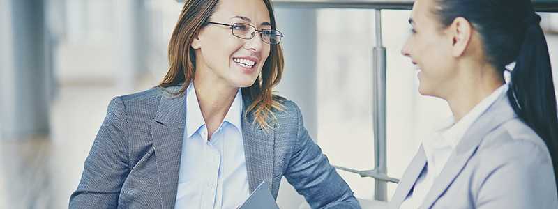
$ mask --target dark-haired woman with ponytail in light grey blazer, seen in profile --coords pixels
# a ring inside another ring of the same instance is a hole
[[[411,16],[402,54],[453,118],[423,140],[391,208],[558,208],[555,89],[531,1],[418,0]]]

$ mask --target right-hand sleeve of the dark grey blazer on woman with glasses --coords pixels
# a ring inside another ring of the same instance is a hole
[[[285,170],[285,178],[302,194],[312,208],[361,208],[322,150],[312,141],[303,126],[302,114],[296,109],[296,146]]]

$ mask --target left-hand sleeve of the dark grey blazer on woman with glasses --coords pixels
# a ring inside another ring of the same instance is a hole
[[[69,208],[117,208],[128,164],[126,107],[117,97],[109,104]]]

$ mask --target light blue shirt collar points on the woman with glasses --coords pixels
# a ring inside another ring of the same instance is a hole
[[[236,91],[232,105],[229,108],[229,111],[227,111],[227,115],[225,116],[223,123],[226,121],[241,130],[241,114],[242,93],[239,88],[239,91]],[[221,126],[223,123],[221,123]],[[188,136],[188,138],[192,137],[192,135],[204,125],[205,121],[204,116],[202,116],[202,109],[199,107],[195,86],[193,82],[191,82],[186,89],[186,136]]]

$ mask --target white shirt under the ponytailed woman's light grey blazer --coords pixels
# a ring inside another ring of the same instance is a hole
[[[439,125],[439,128],[433,131],[431,137],[423,139],[426,167],[416,180],[413,191],[401,204],[401,209],[419,208],[422,205],[426,194],[430,192],[434,181],[444,169],[448,158],[465,135],[465,132],[498,99],[499,95],[506,93],[507,90],[508,84],[500,86],[476,104],[460,121],[455,123],[455,120],[451,117],[444,121],[442,125]]]

